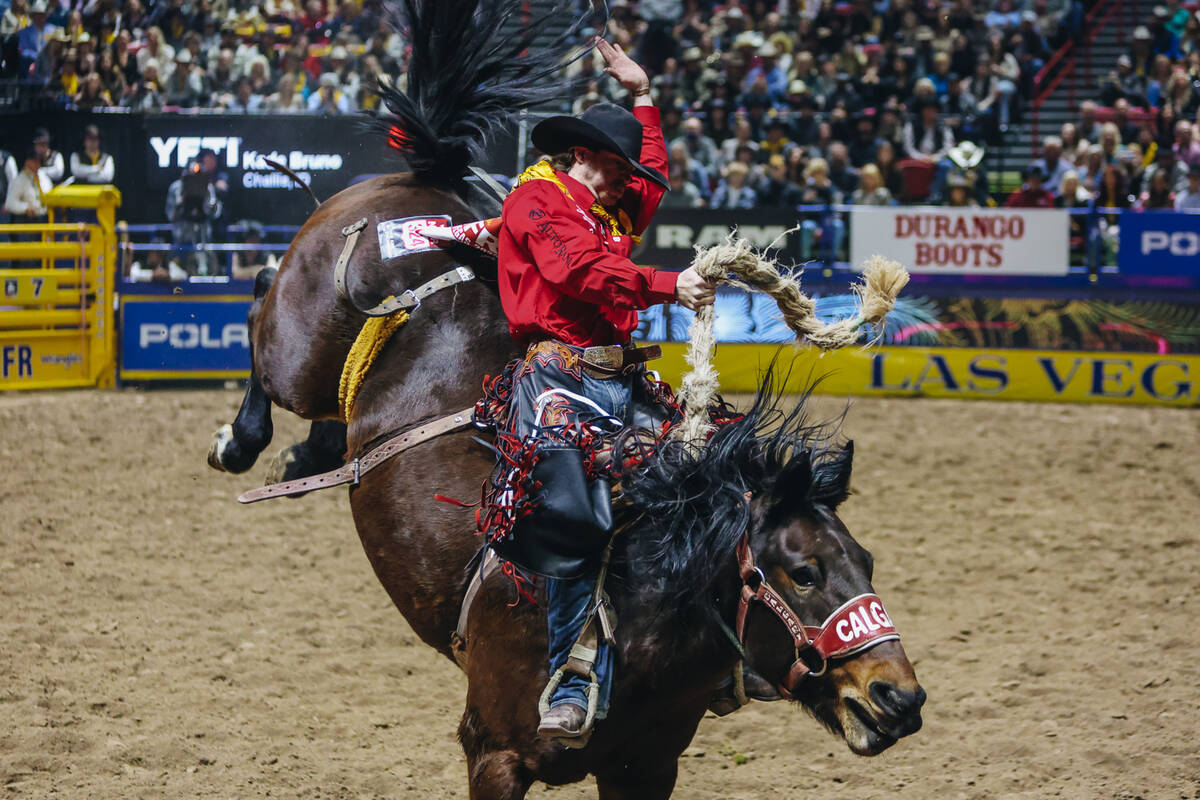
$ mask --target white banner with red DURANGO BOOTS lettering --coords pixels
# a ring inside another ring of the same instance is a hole
[[[876,253],[928,275],[1067,275],[1070,263],[1066,210],[856,206],[850,215],[854,269]]]

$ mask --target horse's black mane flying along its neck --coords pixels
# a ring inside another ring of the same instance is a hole
[[[840,419],[809,421],[814,386],[782,409],[785,383],[769,368],[750,409],[702,447],[665,441],[623,473],[620,516],[636,525],[625,569],[668,607],[694,603],[728,564],[750,519],[746,492],[773,506],[833,509],[845,499],[852,447],[836,441]]]

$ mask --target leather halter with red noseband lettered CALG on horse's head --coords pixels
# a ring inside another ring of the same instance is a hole
[[[834,609],[820,627],[800,622],[787,601],[767,583],[762,570],[755,565],[750,549],[749,531],[738,542],[738,573],[742,576],[742,594],[738,597],[738,643],[745,646],[746,616],[750,604],[760,602],[784,622],[796,646],[796,661],[784,680],[775,686],[780,694],[791,699],[800,681],[809,675],[823,675],[833,658],[845,658],[874,648],[883,642],[899,640],[883,601],[872,594],[852,597]]]

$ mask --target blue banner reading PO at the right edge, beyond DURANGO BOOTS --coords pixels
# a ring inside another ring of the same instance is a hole
[[[1122,275],[1196,275],[1200,213],[1142,211],[1121,215],[1117,270]]]

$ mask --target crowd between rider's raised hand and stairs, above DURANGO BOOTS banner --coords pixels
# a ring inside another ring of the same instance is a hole
[[[607,36],[653,76],[677,207],[988,203],[976,145],[1019,120],[1082,22],[1074,0],[611,7]],[[572,72],[576,112],[624,100],[595,56]]]

